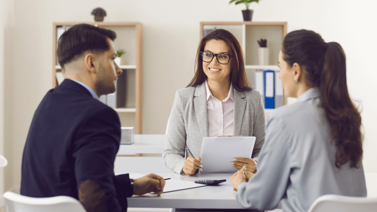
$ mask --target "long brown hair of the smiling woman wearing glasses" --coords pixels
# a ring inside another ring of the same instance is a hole
[[[230,54],[232,55],[232,57],[230,58],[230,81],[233,84],[234,89],[236,89],[237,91],[250,91],[251,86],[249,81],[247,80],[245,72],[244,54],[242,52],[241,45],[239,44],[237,38],[225,29],[215,29],[200,41],[198,52],[196,52],[195,75],[189,85],[187,85],[187,87],[197,86],[204,83],[204,81],[207,79],[207,76],[204,74],[203,61],[201,59],[200,52],[204,51],[204,46],[207,41],[213,39],[223,40],[230,49]]]

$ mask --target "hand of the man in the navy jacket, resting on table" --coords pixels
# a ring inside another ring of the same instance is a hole
[[[157,195],[161,195],[164,186],[164,178],[156,174],[148,174],[133,180],[133,194],[143,195],[149,192],[155,192]]]

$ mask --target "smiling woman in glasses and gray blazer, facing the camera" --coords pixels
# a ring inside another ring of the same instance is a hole
[[[175,94],[163,157],[181,175],[198,173],[202,140],[217,135],[255,136],[252,158],[234,158],[229,166],[256,172],[264,142],[265,113],[261,94],[247,80],[244,56],[236,37],[216,29],[199,44],[196,72]],[[194,157],[188,157],[186,146]],[[205,167],[204,167],[205,168]]]

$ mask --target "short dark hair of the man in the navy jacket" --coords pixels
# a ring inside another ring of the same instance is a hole
[[[66,63],[81,57],[85,51],[105,52],[110,49],[106,38],[114,40],[116,34],[89,24],[78,24],[65,31],[58,41],[56,54],[61,68]]]

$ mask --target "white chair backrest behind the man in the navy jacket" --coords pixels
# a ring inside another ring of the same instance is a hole
[[[83,205],[72,197],[26,197],[7,191],[3,195],[8,212],[86,212]]]

